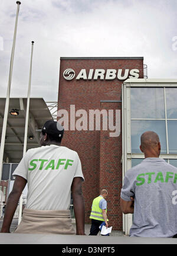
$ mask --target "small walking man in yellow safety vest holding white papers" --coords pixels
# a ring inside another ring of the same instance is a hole
[[[105,200],[108,195],[107,190],[101,190],[100,196],[93,200],[91,206],[91,228],[89,235],[97,235],[100,231],[99,226],[105,222],[106,228],[108,228],[107,219],[107,201]]]

